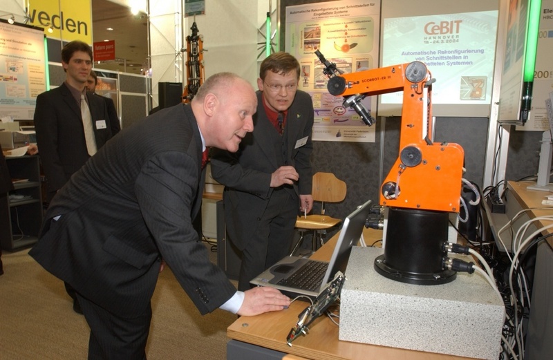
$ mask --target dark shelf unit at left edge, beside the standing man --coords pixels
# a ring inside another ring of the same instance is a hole
[[[11,194],[25,196],[24,200],[0,198],[0,245],[9,252],[30,247],[37,242],[42,224],[43,209],[39,157],[6,158],[12,179],[26,181],[14,184]]]

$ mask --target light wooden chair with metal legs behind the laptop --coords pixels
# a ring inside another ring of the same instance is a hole
[[[317,240],[319,240],[321,245],[324,244],[323,235],[326,234],[326,230],[341,223],[341,219],[332,218],[325,214],[325,204],[327,202],[343,201],[346,198],[346,191],[346,182],[336,178],[333,173],[315,173],[313,175],[311,195],[314,202],[321,202],[321,214],[298,216],[296,219],[296,229],[300,233],[300,238],[290,255],[294,254],[299,245],[301,245],[306,231],[313,232],[313,251],[317,250]]]

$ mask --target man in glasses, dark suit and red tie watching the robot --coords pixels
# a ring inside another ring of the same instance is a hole
[[[238,290],[290,252],[294,224],[309,212],[313,104],[298,90],[300,66],[288,53],[261,63],[254,131],[236,153],[214,149],[212,175],[225,185],[229,240],[242,252]]]

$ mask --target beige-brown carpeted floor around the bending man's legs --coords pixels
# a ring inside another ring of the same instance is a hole
[[[73,312],[62,281],[27,253],[2,254],[0,359],[86,359],[89,330],[83,316]],[[216,253],[209,257],[215,261]],[[236,315],[216,310],[201,316],[170,269],[160,274],[152,308],[149,360],[226,358],[226,329]]]

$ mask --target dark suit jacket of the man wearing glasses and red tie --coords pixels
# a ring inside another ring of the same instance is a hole
[[[257,92],[257,111],[254,115],[254,131],[248,133],[236,153],[213,149],[211,164],[212,176],[225,185],[225,221],[234,241],[251,238],[259,222],[252,222],[263,214],[273,189],[270,187],[271,174],[279,168],[277,156],[281,153],[268,146],[273,141],[275,129],[268,120],[263,108],[261,92]],[[288,108],[286,129],[288,131],[288,156],[286,165],[299,173],[299,182],[294,191],[310,194],[312,187],[311,131],[313,127],[313,104],[308,93],[297,91],[292,106]],[[306,139],[299,146],[298,141]],[[299,208],[299,203],[298,203]],[[238,243],[240,247],[242,244]]]

